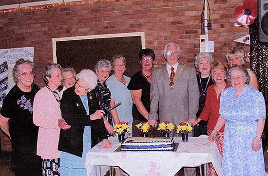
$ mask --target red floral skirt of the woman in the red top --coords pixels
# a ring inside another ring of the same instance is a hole
[[[212,130],[208,129],[208,135],[210,135],[211,132]],[[223,141],[224,141],[224,132],[219,132],[215,137],[215,143],[221,154],[221,157],[223,156]],[[212,163],[208,164],[208,173],[209,173],[209,176],[218,176],[216,171],[213,168]]]

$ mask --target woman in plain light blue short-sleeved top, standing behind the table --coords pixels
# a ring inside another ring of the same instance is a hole
[[[112,66],[114,74],[107,79],[106,84],[111,91],[112,98],[115,99],[115,104],[122,103],[116,110],[120,121],[129,123],[129,136],[132,136],[132,98],[130,90],[127,88],[130,77],[123,75],[126,70],[126,58],[121,55],[115,55],[112,58]]]

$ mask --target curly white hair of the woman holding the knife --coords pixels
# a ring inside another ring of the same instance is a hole
[[[96,73],[89,69],[83,69],[76,75],[77,81],[80,80],[81,82],[85,83],[89,91],[93,90],[97,85],[98,77]]]

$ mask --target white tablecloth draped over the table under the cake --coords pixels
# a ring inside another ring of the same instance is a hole
[[[109,138],[112,148],[100,150],[99,143],[87,153],[87,175],[95,174],[95,165],[114,165],[130,176],[174,176],[182,167],[196,167],[212,162],[217,174],[221,176],[222,158],[215,142],[210,142],[207,138],[208,136],[192,137],[188,142],[175,138],[175,142],[179,142],[176,151],[115,152],[120,143],[118,138],[112,137]]]

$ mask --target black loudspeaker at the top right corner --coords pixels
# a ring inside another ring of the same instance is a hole
[[[258,0],[259,41],[268,42],[268,0]]]

